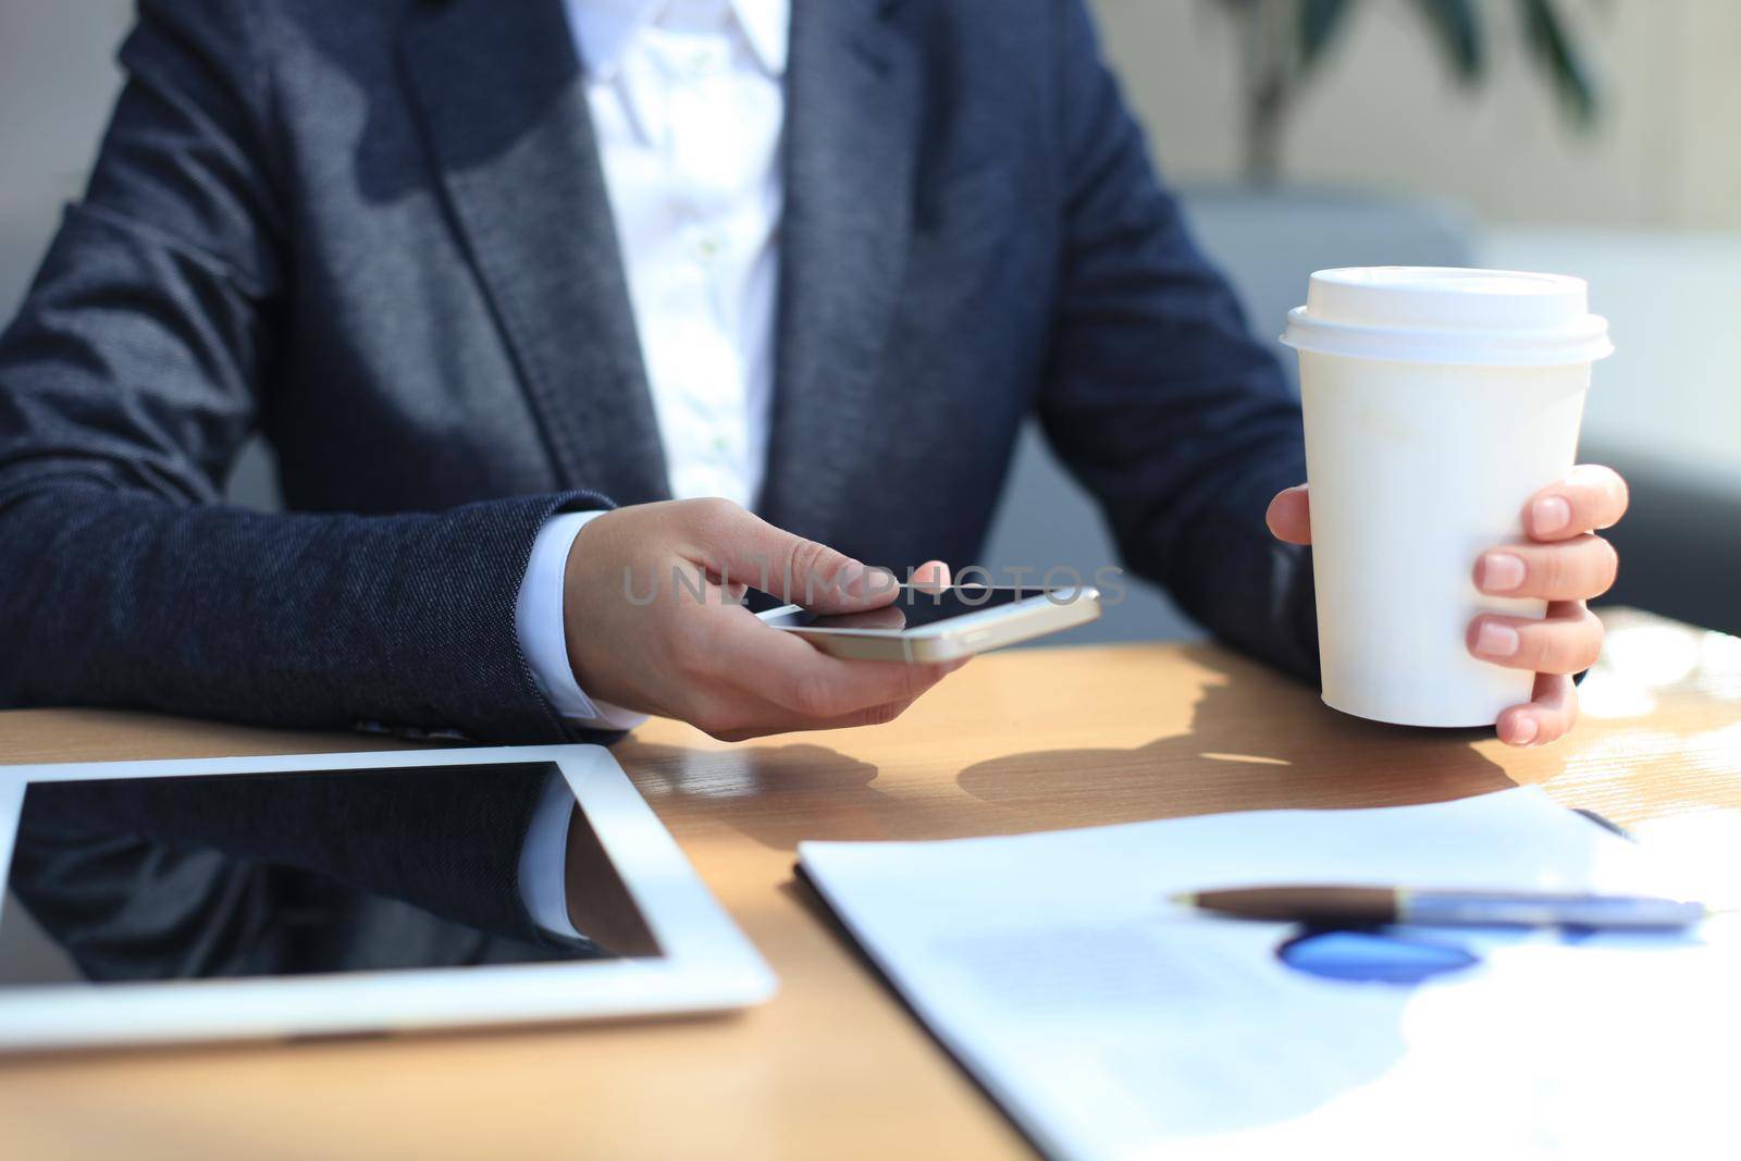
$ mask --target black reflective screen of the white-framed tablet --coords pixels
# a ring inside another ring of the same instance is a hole
[[[526,907],[524,825],[550,776],[500,762],[31,783],[0,987],[656,956],[580,811],[533,874],[583,870],[615,945]]]

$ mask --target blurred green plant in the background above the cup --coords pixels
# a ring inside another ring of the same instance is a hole
[[[1398,0],[1384,0],[1395,3]],[[1281,134],[1301,91],[1348,24],[1358,0],[1220,0],[1240,31],[1245,103],[1245,176],[1273,185],[1281,169]],[[1598,94],[1590,63],[1555,0],[1516,0],[1530,61],[1544,73],[1567,118],[1595,122]],[[1480,0],[1414,0],[1464,85],[1487,77],[1489,30]]]

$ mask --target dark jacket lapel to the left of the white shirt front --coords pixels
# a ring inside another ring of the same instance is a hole
[[[581,66],[559,0],[447,0],[404,63],[454,219],[566,487],[669,494]]]

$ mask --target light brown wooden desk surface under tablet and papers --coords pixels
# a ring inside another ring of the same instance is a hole
[[[1511,752],[1374,726],[1226,651],[977,660],[900,722],[728,747],[672,722],[618,757],[780,973],[756,1011],[620,1027],[0,1064],[16,1158],[1008,1156],[998,1111],[792,884],[799,839],[928,839],[1544,783],[1621,823],[1741,809],[1741,641],[1609,614],[1586,721]],[[129,714],[0,714],[0,762],[364,748]]]

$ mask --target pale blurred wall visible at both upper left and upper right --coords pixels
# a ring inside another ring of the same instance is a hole
[[[810,2],[810,0],[799,0]],[[1107,56],[1175,181],[1238,176],[1238,26],[1219,0],[1090,0]],[[1741,3],[1572,0],[1605,92],[1569,134],[1513,0],[1480,0],[1490,75],[1459,85],[1415,0],[1363,0],[1297,110],[1287,176],[1431,191],[1496,223],[1741,230]],[[118,73],[131,0],[0,0],[0,223],[77,191]],[[17,272],[0,270],[0,294]],[[10,303],[10,298],[0,299]]]

